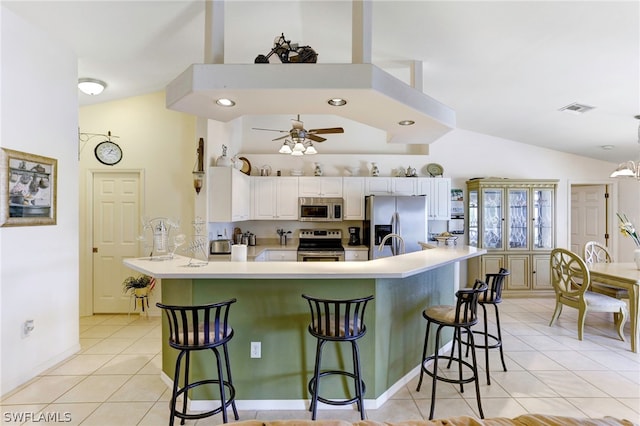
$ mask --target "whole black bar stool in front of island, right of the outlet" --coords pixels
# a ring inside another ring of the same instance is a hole
[[[309,393],[311,394],[309,411],[311,411],[312,420],[316,419],[318,401],[329,405],[350,405],[355,403],[360,412],[360,418],[364,420],[362,396],[365,393],[365,385],[361,378],[360,352],[357,340],[367,332],[367,327],[364,324],[364,311],[373,296],[349,300],[318,299],[305,294],[302,297],[307,300],[311,310],[309,333],[317,339],[313,378],[309,381]],[[322,348],[325,343],[330,341],[349,342],[351,344],[353,372],[346,370],[321,371]],[[320,379],[333,375],[341,375],[353,379],[355,388],[355,396],[353,398],[335,400],[320,396]]]

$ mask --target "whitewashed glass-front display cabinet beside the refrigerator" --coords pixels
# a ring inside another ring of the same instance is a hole
[[[557,180],[467,181],[468,244],[487,254],[470,260],[469,282],[506,268],[505,290],[552,290]]]

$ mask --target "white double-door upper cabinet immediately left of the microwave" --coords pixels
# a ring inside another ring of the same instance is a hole
[[[251,218],[257,220],[298,220],[298,178],[251,178]]]

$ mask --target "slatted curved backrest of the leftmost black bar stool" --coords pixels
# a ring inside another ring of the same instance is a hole
[[[169,321],[169,345],[176,349],[208,349],[233,337],[229,308],[236,299],[199,306],[156,303]]]

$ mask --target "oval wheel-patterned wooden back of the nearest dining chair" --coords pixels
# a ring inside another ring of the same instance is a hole
[[[551,251],[551,284],[557,296],[578,301],[591,284],[587,264],[577,254],[562,248]]]

